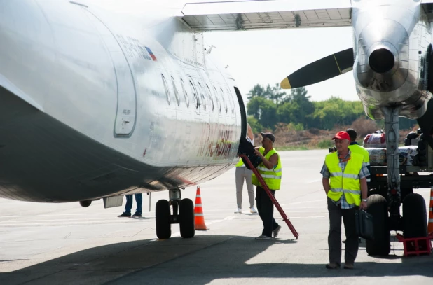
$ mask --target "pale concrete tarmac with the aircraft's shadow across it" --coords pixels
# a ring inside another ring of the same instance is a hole
[[[276,209],[280,235],[254,239],[263,226],[249,213],[246,186],[242,214],[233,213],[235,168],[200,185],[209,230],[192,239],[180,237],[179,225],[170,239],[156,238],[155,203],[168,199],[167,191],[151,195],[150,212],[144,194],[142,218],[117,218],[123,207],[104,209],[102,200],[83,208],[0,199],[0,284],[433,284],[433,256],[402,257],[395,232],[389,256],[368,256],[363,241],[354,270],[325,269],[329,220],[319,172],[326,154],[280,153],[276,198],[297,240]],[[195,193],[195,187],[181,191],[193,202]],[[429,207],[430,189],[415,193]]]

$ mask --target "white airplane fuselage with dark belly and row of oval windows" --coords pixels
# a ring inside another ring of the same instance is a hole
[[[201,34],[142,18],[85,2],[0,2],[1,197],[92,200],[191,186],[233,166],[246,129],[235,81]]]

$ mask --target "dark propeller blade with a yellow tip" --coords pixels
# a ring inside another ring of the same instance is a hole
[[[353,48],[341,50],[296,70],[284,78],[280,86],[282,89],[291,89],[325,81],[351,71],[353,62]]]

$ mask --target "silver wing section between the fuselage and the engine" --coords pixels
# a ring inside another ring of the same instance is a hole
[[[186,3],[181,18],[195,31],[342,27],[350,0],[249,0]]]

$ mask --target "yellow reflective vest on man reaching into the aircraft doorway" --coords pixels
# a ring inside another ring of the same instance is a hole
[[[261,148],[259,148],[259,151],[261,154],[263,154],[265,152],[265,148],[261,147]],[[266,153],[265,158],[267,160],[269,160],[269,158],[274,153],[277,153],[277,151],[275,151],[275,148],[271,149],[268,153]],[[277,153],[277,155],[278,155],[278,153]],[[277,165],[275,165],[275,167],[273,169],[266,168],[266,166],[263,165],[263,162],[262,162],[257,167],[257,170],[259,171],[260,175],[263,177],[263,181],[265,181],[266,185],[268,185],[268,188],[270,190],[279,190],[280,189],[281,174],[282,174],[280,155],[278,155],[278,163],[277,163]],[[257,177],[254,173],[252,174],[252,183],[255,186],[263,187],[261,185],[261,183],[259,182],[259,179],[257,179]]]

